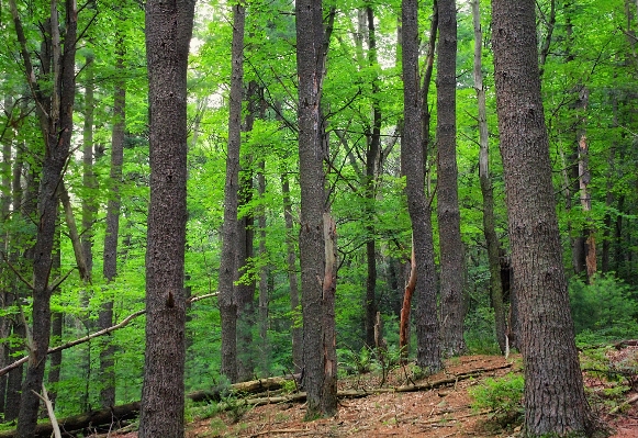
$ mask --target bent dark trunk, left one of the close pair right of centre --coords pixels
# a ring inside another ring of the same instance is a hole
[[[416,262],[416,363],[429,372],[441,368],[439,324],[436,308],[434,247],[430,209],[425,196],[421,97],[418,92],[418,21],[417,1],[402,2],[403,35],[403,141],[401,168],[406,177],[407,210]]]

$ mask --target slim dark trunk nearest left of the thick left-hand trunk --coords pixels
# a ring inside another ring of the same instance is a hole
[[[122,183],[122,165],[124,164],[124,136],[126,127],[126,83],[121,79],[124,72],[124,38],[116,36],[116,59],[115,91],[113,97],[113,130],[111,132],[111,170],[110,179],[113,184],[111,198],[107,204],[107,232],[104,233],[104,251],[102,274],[107,283],[111,283],[117,276],[117,238],[120,236],[120,205],[122,195],[120,184]],[[98,316],[100,329],[113,325],[113,296],[108,295],[100,308]],[[109,407],[115,405],[115,361],[113,355],[115,348],[111,344],[112,336],[108,336],[102,341],[100,350],[100,379],[102,389],[100,390],[100,405]]]

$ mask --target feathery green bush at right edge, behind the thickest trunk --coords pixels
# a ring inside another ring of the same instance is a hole
[[[633,338],[638,333],[636,291],[613,274],[596,277],[592,284],[572,280],[570,302],[580,345]]]

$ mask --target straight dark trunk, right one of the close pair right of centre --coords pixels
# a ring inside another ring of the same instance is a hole
[[[464,351],[463,244],[461,242],[457,168],[457,9],[438,0],[437,53],[437,216],[440,266],[441,347],[445,355]]]

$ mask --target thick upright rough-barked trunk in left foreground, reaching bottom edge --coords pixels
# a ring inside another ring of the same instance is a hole
[[[150,204],[139,437],[183,437],[187,67],[194,0],[146,2]]]

